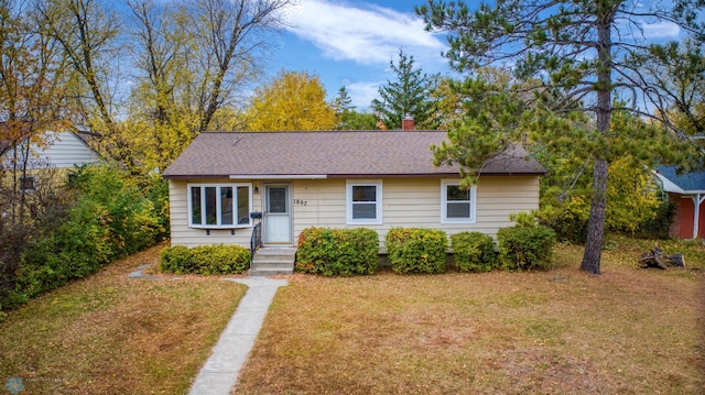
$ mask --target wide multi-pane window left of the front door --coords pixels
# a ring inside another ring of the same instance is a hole
[[[250,184],[188,184],[188,226],[247,228],[252,224]]]

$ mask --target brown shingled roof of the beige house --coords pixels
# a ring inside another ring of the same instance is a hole
[[[261,176],[457,176],[457,166],[433,165],[430,147],[443,131],[319,131],[202,133],[169,166],[165,178]],[[489,161],[486,175],[541,175],[522,149]]]

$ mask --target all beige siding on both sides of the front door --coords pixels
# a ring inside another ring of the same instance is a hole
[[[220,182],[228,182],[220,180]],[[238,243],[249,245],[251,228],[212,230],[188,229],[186,182],[171,182],[172,244],[199,245]],[[261,211],[262,187],[254,195],[254,211]],[[308,227],[352,228],[346,224],[346,180],[293,180],[292,211],[293,240]],[[382,180],[382,224],[364,226],[375,229],[383,245],[384,235],[392,227],[434,228],[448,234],[480,231],[495,237],[500,228],[509,227],[509,215],[539,208],[539,177],[481,177],[477,186],[475,223],[441,223],[441,179],[388,178]]]

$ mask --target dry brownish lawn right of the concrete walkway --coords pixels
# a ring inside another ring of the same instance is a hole
[[[570,245],[549,272],[293,276],[237,393],[705,393],[705,274],[620,249],[600,276]]]

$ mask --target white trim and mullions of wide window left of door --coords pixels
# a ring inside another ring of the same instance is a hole
[[[192,195],[191,195],[191,188],[192,187],[199,187],[200,188],[200,222],[202,223],[193,223],[193,205],[192,205]],[[218,224],[205,224],[206,222],[206,210],[205,210],[205,201],[206,201],[206,189],[205,187],[216,187],[216,219]],[[223,208],[220,207],[221,201],[219,199],[220,197],[220,187],[231,187],[232,188],[232,195],[237,196],[237,191],[238,191],[238,187],[247,187],[248,190],[248,202],[249,202],[249,207],[248,207],[248,223],[237,223],[238,222],[238,205],[237,205],[237,198],[232,199],[232,224],[220,224],[219,222],[223,219]],[[216,184],[187,184],[186,185],[186,196],[187,196],[187,208],[186,208],[186,215],[188,216],[188,228],[196,228],[196,229],[238,229],[238,228],[251,228],[252,227],[252,218],[250,217],[250,212],[252,212],[252,184],[251,183],[216,183]]]

